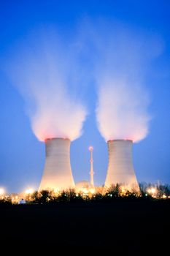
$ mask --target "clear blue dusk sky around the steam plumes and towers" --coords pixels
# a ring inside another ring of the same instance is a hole
[[[122,26],[144,31],[161,38],[161,53],[150,61],[144,86],[150,93],[150,133],[134,144],[134,167],[138,181],[170,184],[170,3],[169,1],[1,1],[0,3],[0,186],[9,192],[26,187],[37,188],[45,161],[45,145],[31,130],[22,95],[4,72],[9,52],[36,28],[52,26],[67,39],[81,31],[84,20],[107,24],[115,20]],[[83,34],[83,31],[82,31]],[[86,51],[85,51],[86,53]],[[84,53],[84,55],[85,55]],[[90,55],[93,49],[90,48]],[[82,58],[83,63],[87,59]],[[104,184],[107,171],[107,144],[96,126],[96,89],[89,80],[83,102],[88,105],[88,117],[82,137],[71,146],[74,180],[88,180],[90,152],[93,145],[94,181]]]

